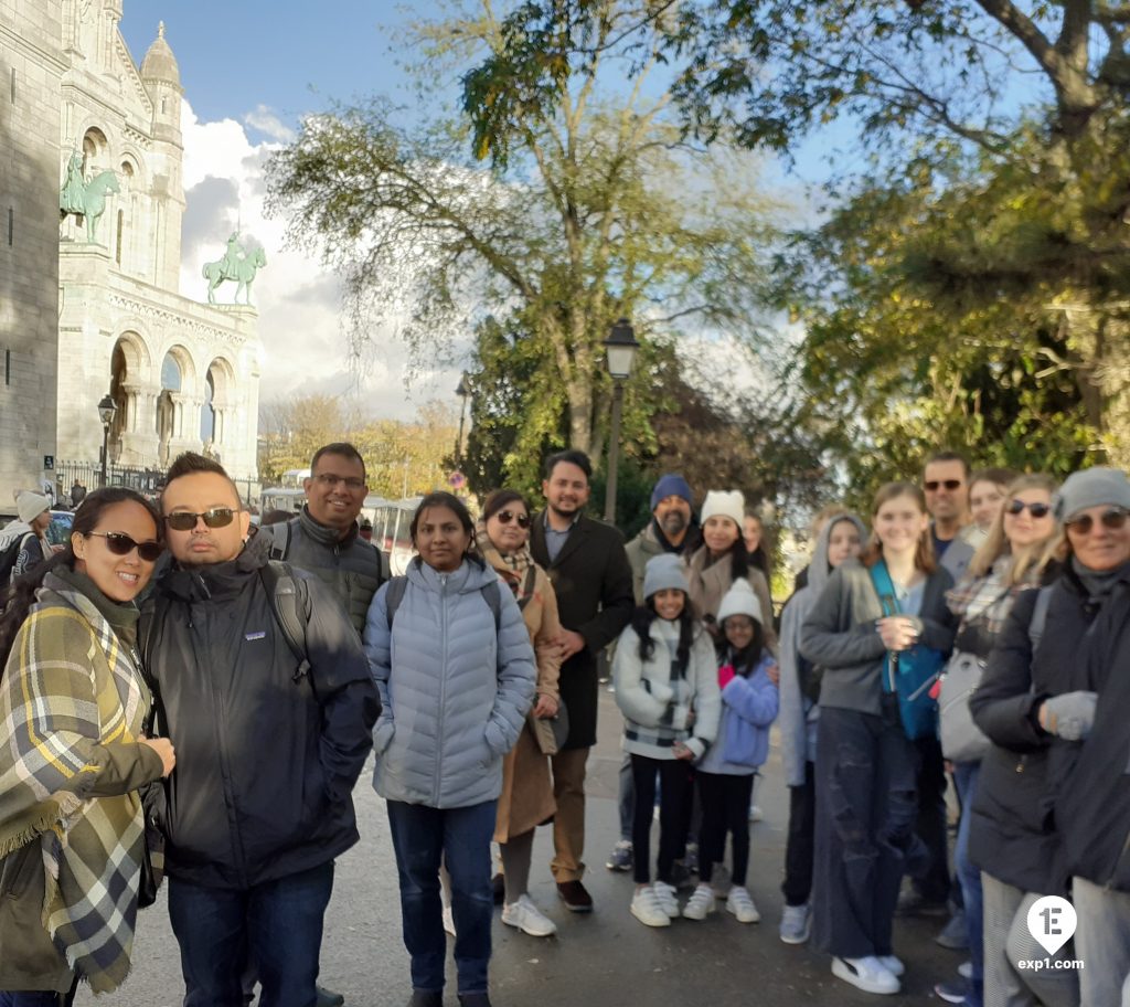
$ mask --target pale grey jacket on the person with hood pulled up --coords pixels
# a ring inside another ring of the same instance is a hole
[[[805,784],[805,763],[816,761],[816,723],[819,707],[808,698],[801,687],[801,672],[810,667],[800,656],[800,631],[805,619],[832,576],[828,566],[828,541],[832,529],[841,521],[851,521],[859,531],[859,540],[867,540],[867,527],[855,515],[847,512],[834,515],[820,530],[816,548],[808,565],[807,583],[789,599],[781,613],[781,713],[777,729],[781,731],[781,761],[784,764],[784,782],[788,787]]]

